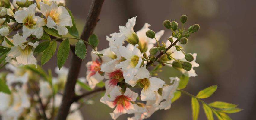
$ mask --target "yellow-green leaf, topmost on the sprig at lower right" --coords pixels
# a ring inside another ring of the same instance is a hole
[[[213,85],[208,88],[205,88],[205,89],[199,91],[196,97],[197,98],[208,98],[217,90],[217,87],[218,87],[217,85]]]

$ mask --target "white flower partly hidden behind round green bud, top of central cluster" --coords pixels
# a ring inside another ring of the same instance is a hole
[[[145,52],[147,53],[147,55],[150,55],[149,50],[154,46],[154,44],[156,43],[156,40],[146,36],[146,32],[150,30],[148,27],[150,27],[150,24],[145,23],[144,26],[141,28],[141,30],[137,31],[136,33],[140,40],[139,44],[143,47],[144,50],[147,49]],[[164,33],[164,30],[160,30],[159,32],[156,33],[155,38],[159,40],[162,37],[163,33]]]

